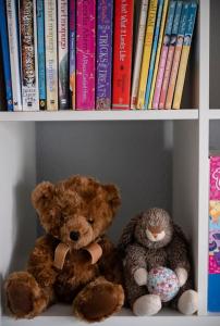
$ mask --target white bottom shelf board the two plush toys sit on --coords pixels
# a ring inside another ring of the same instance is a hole
[[[2,326],[72,326],[72,325],[88,325],[80,322],[72,316],[71,305],[56,304],[48,309],[41,316],[34,319],[13,319],[9,316],[3,316]],[[111,316],[102,323],[91,325],[105,326],[219,326],[219,315],[208,316],[184,316],[176,311],[163,309],[158,315],[148,317],[137,317],[127,309],[123,309],[120,313]]]

